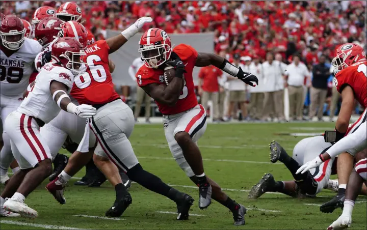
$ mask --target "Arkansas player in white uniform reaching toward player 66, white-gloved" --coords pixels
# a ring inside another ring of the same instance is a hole
[[[39,128],[53,120],[60,109],[81,118],[91,118],[96,112],[91,105],[73,104],[68,96],[74,76],[86,69],[81,61],[81,56],[85,55],[83,48],[73,38],[55,41],[51,52],[53,62],[42,67],[32,83],[31,92],[6,120],[4,130],[9,135],[12,152],[20,166],[20,171],[10,179],[1,195],[1,206],[7,211],[29,218],[38,215],[24,204],[24,199],[52,171],[50,150]],[[5,198],[9,199],[5,202]]]

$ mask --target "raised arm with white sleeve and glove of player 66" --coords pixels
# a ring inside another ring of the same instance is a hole
[[[129,38],[133,37],[139,32],[144,23],[151,22],[152,20],[153,19],[150,17],[141,17],[134,24],[130,25],[126,30],[121,32],[120,35],[107,39],[106,42],[110,47],[109,53],[113,53],[121,48],[121,46],[123,46],[123,44],[125,44]]]

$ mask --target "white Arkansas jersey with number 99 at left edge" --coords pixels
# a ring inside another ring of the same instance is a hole
[[[33,62],[41,50],[42,46],[36,40],[25,38],[22,47],[9,57],[1,51],[1,94],[18,96],[27,89],[29,78],[34,72]]]

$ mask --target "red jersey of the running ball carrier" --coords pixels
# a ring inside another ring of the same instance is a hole
[[[192,76],[198,53],[193,47],[186,44],[176,46],[173,48],[173,52],[175,52],[180,57],[183,64],[185,64],[187,73],[183,75],[185,77],[185,85],[183,86],[181,95],[175,106],[169,106],[157,101],[155,102],[164,115],[172,115],[187,111],[198,104],[194,92],[194,81]],[[151,83],[165,84],[163,74],[164,71],[161,69],[148,68],[143,65],[136,73],[136,78],[140,87],[144,87]]]

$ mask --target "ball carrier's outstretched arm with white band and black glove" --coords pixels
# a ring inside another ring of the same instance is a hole
[[[233,77],[238,77],[240,80],[242,80],[246,84],[251,85],[252,87],[258,85],[258,79],[255,75],[244,72],[241,69],[241,67],[237,68],[233,66],[223,57],[218,56],[217,54],[214,53],[198,53],[195,66],[203,67],[209,65],[213,65],[218,69],[221,69],[224,72],[230,74]]]

